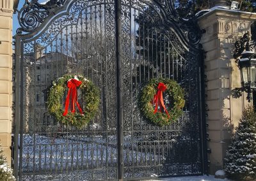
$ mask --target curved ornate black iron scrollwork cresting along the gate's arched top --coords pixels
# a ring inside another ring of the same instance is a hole
[[[170,28],[173,33],[176,34],[177,38],[179,38],[180,42],[182,42],[187,50],[192,50],[193,52],[198,52],[198,50],[200,50],[201,47],[199,42],[202,33],[196,24],[196,17],[189,18],[188,20],[180,18],[174,10],[172,1],[170,0],[152,0],[151,2],[149,0],[140,1],[156,11],[159,18],[161,18],[162,24]],[[74,2],[72,0],[51,0],[47,4],[40,4],[38,3],[38,0],[31,2],[26,0],[24,6],[18,13],[20,28],[17,29],[17,35],[21,36],[22,33],[27,33],[22,34],[24,39],[29,37],[29,34],[34,36],[36,33],[42,31],[47,24],[51,24],[51,20],[69,13],[70,8],[72,7],[71,4],[75,2],[86,4],[86,2],[79,0]],[[95,4],[92,2],[91,4],[97,5],[101,3]],[[102,1],[102,4],[105,4],[104,1]],[[127,4],[122,4],[128,6]]]

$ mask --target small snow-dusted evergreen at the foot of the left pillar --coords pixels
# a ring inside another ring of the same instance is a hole
[[[12,175],[12,169],[9,168],[6,157],[3,155],[3,149],[0,148],[0,181],[12,181],[15,178]]]

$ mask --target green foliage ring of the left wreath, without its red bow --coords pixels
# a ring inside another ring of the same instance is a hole
[[[82,82],[77,88],[83,92],[83,105],[81,106],[83,107],[84,115],[79,112],[68,112],[66,116],[63,116],[63,96],[67,90],[67,82],[71,78],[74,78],[74,75],[63,75],[55,82],[52,82],[52,87],[47,97],[47,108],[56,120],[66,125],[81,128],[95,117],[100,103],[100,94],[99,89],[90,80],[78,75],[77,78]]]

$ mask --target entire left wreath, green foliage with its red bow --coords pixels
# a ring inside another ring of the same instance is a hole
[[[99,102],[99,89],[90,80],[81,75],[63,75],[52,82],[47,108],[63,124],[83,127],[95,117]]]

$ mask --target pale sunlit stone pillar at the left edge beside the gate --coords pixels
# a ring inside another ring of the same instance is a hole
[[[10,164],[12,143],[12,16],[14,0],[0,1],[0,143]]]

